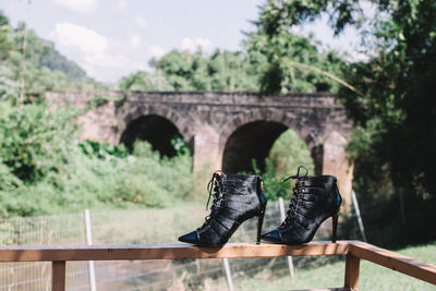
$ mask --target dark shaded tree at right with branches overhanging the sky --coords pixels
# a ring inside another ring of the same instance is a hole
[[[373,160],[378,159],[378,165],[389,165],[396,184],[410,187],[410,181],[419,178],[435,192],[436,140],[432,125],[436,118],[428,105],[435,96],[431,84],[435,76],[436,21],[432,15],[436,13],[436,2],[370,2],[376,10],[373,17],[364,15],[359,1],[270,0],[262,9],[258,31],[274,39],[323,12],[331,15],[337,33],[347,25],[360,29],[372,54],[367,62],[343,68],[343,75],[356,90],[342,88],[341,100],[358,124],[376,131],[373,135],[377,138],[366,147],[372,148]],[[365,151],[359,153],[365,160]]]

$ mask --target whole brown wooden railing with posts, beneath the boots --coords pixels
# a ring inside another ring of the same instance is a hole
[[[358,290],[360,259],[366,259],[436,284],[436,266],[360,241],[311,242],[301,245],[227,244],[197,247],[189,244],[92,245],[92,246],[3,246],[0,262],[52,262],[52,290],[65,290],[65,263],[71,260],[132,260],[223,257],[277,257],[346,255],[343,288]]]

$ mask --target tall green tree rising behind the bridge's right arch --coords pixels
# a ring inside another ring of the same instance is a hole
[[[304,19],[316,16],[320,5],[316,2],[270,0],[261,8],[259,19],[254,22],[256,31],[246,34],[245,46],[259,69],[262,92],[338,90],[339,83],[334,78],[342,77],[343,59],[335,51],[320,51],[320,43],[314,41],[313,36],[305,38],[290,31]]]

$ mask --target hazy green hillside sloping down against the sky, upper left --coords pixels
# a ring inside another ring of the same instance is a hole
[[[24,32],[26,31],[25,70],[22,66]],[[46,90],[94,89],[100,87],[75,63],[66,60],[47,40],[39,38],[21,23],[11,27],[0,11],[0,98],[19,96],[21,78],[25,93]]]

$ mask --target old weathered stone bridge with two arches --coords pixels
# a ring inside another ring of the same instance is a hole
[[[328,94],[104,92],[48,93],[46,98],[76,107],[112,99],[80,117],[82,138],[128,146],[148,140],[170,156],[170,138],[179,135],[193,153],[194,171],[245,170],[252,158],[262,162],[277,137],[292,129],[307,144],[316,173],[337,175],[346,199],[351,192],[352,166],[343,149],[351,122]]]

